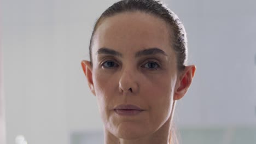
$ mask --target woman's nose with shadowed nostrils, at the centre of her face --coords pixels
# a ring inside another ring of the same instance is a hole
[[[132,69],[124,69],[121,72],[119,79],[119,91],[124,94],[137,93],[139,90],[138,79],[136,77],[138,73]]]

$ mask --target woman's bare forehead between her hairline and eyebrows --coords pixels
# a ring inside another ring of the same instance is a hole
[[[170,31],[166,22],[152,14],[126,12],[104,19],[94,35],[92,53],[101,47],[121,53],[158,47],[171,53]]]

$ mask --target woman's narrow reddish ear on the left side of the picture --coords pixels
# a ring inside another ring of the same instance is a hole
[[[94,89],[94,81],[92,80],[92,65],[89,61],[82,61],[81,62],[82,68],[84,70],[84,74],[88,81],[88,86],[91,89],[91,92],[95,95]]]

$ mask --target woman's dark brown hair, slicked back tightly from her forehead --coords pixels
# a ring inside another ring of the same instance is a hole
[[[116,14],[124,13],[124,12],[132,12],[132,11],[141,11],[147,14],[152,14],[156,17],[164,20],[168,26],[170,26],[170,42],[174,51],[177,55],[177,65],[179,70],[183,70],[185,68],[185,64],[187,63],[187,35],[185,32],[185,28],[179,20],[178,16],[173,13],[170,9],[168,9],[164,4],[160,1],[154,0],[123,0],[117,3],[114,3],[108,9],[106,9],[98,18],[95,23],[94,30],[92,31],[91,40],[90,40],[90,61],[92,64],[92,56],[91,56],[91,47],[94,40],[94,34],[98,26],[100,26],[101,22],[107,17],[114,16]]]

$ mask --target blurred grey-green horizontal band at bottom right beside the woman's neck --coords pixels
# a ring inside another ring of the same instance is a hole
[[[179,128],[180,144],[255,144],[256,128]]]

